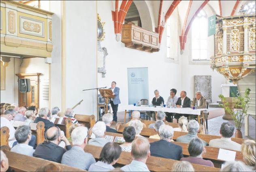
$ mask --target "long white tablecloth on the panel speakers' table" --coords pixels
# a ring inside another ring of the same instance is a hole
[[[163,111],[170,113],[182,113],[190,115],[201,115],[201,111],[207,111],[207,109],[191,109],[189,107],[185,108],[167,108],[167,107],[148,107],[148,106],[134,106],[134,105],[124,105],[118,109],[119,111],[132,110],[132,111]]]

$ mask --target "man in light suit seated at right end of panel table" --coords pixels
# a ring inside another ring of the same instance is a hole
[[[202,93],[200,91],[196,92],[196,97],[193,99],[192,103],[191,103],[191,107],[194,107],[196,105],[197,109],[205,109],[206,107],[206,99],[202,96]],[[203,113],[203,111],[201,111],[201,117],[203,117],[205,120],[208,117],[208,113]],[[197,117],[196,115],[189,115],[189,119],[190,120],[194,120],[195,117]]]

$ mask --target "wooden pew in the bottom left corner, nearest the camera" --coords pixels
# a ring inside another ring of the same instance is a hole
[[[63,172],[85,172],[78,168],[71,166],[66,166],[64,164],[51,162],[45,159],[30,157],[27,155],[22,155],[19,153],[11,152],[8,150],[3,150],[6,157],[9,160],[9,167],[11,170],[21,171],[21,172],[34,172],[36,169],[42,165],[53,163],[61,168]]]

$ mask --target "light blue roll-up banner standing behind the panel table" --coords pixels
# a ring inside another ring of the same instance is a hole
[[[148,68],[127,68],[128,103],[132,105],[141,99],[149,100]]]

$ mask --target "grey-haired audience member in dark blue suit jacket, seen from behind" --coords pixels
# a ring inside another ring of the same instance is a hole
[[[183,157],[182,147],[171,143],[173,128],[167,125],[161,126],[159,136],[160,141],[150,143],[151,156],[180,160]]]

